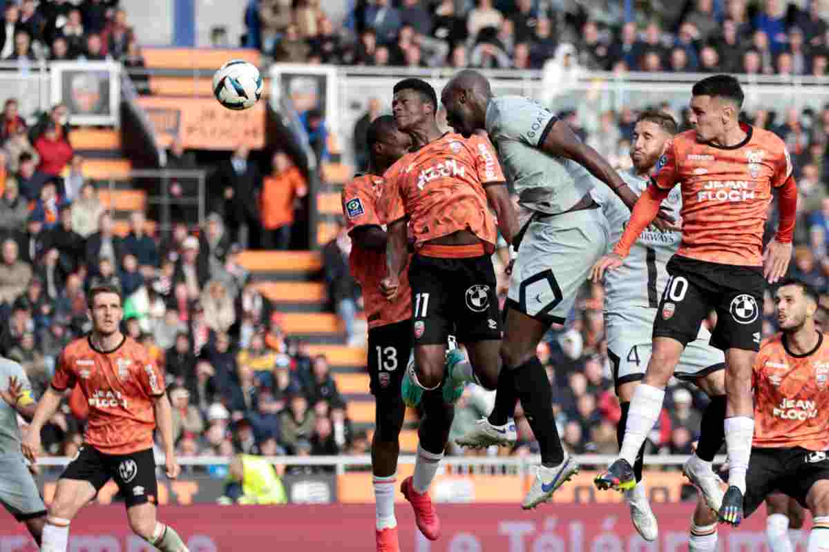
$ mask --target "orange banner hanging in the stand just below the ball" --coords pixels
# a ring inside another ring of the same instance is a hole
[[[241,143],[264,147],[264,102],[244,111],[221,107],[213,98],[138,98],[158,141],[168,147],[176,136],[194,150],[235,150]]]

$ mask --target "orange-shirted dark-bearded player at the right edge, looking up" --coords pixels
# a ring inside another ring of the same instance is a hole
[[[806,552],[829,546],[829,339],[815,327],[818,295],[797,280],[775,293],[780,334],[764,339],[754,362],[756,429],[746,473],[744,515],[750,516],[773,492],[812,511]],[[782,506],[782,505],[781,505]],[[717,550],[716,516],[697,506],[706,535],[691,531],[691,552]],[[788,541],[788,536],[786,538]],[[793,550],[773,543],[774,550]]]

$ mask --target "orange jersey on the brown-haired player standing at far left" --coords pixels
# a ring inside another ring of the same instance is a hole
[[[51,386],[79,386],[90,406],[84,440],[104,454],[153,447],[153,397],[164,394],[164,376],[146,348],[131,338],[110,353],[75,339],[61,353]]]

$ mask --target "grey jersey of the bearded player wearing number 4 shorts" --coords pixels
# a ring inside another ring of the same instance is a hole
[[[648,184],[647,178],[635,175],[633,171],[619,173],[631,190],[642,194]],[[608,219],[612,248],[622,237],[625,226],[630,220],[630,210],[613,193],[608,186],[599,185],[591,192],[596,203],[602,205],[605,218]],[[662,202],[670,214],[679,220],[682,208],[682,193],[676,186],[667,199]],[[656,309],[668,280],[667,262],[679,249],[681,242],[679,232],[661,232],[650,226],[639,235],[625,257],[624,264],[616,270],[607,271],[604,276],[604,311],[608,314],[620,314],[631,307]]]

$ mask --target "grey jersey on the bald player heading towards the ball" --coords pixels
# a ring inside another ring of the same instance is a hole
[[[587,169],[541,151],[555,115],[531,99],[499,96],[487,105],[487,133],[521,205],[547,214],[569,210],[599,183]]]

